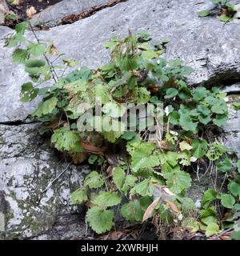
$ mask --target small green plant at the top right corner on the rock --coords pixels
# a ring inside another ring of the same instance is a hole
[[[230,0],[211,0],[215,6],[211,10],[201,10],[198,12],[199,17],[206,17],[218,12],[218,16],[222,22],[230,22],[234,18],[234,14],[238,11],[238,7],[230,3]]]

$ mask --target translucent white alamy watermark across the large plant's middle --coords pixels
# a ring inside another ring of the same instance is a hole
[[[94,106],[88,102],[78,105],[78,130],[98,132],[148,131],[152,140],[162,139],[162,103],[118,103],[95,98]]]

